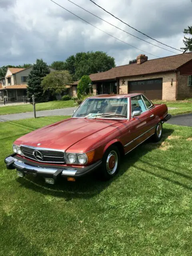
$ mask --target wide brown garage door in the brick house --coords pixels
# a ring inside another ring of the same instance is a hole
[[[150,100],[162,100],[162,78],[130,81],[128,90],[129,93],[143,93]]]

